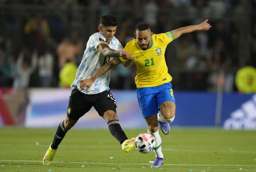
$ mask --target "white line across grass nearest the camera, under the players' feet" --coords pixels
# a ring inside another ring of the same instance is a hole
[[[0,159],[0,161],[9,161],[9,162],[43,162],[43,161],[32,161],[32,160],[7,160]],[[73,164],[117,164],[117,165],[152,165],[152,164],[143,164],[143,163],[109,163],[109,162],[65,162],[65,161],[53,161],[53,163],[73,163]],[[164,165],[173,165],[173,166],[256,166],[256,165],[231,165],[231,164],[164,164]]]

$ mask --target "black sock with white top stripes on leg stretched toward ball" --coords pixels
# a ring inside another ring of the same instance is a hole
[[[128,139],[122,130],[118,120],[108,122],[108,129],[110,133],[122,144],[124,140]]]

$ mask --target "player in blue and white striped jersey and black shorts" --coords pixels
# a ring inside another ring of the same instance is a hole
[[[94,76],[94,73],[112,58],[130,59],[131,54],[123,50],[121,43],[114,37],[116,26],[117,20],[115,17],[111,15],[102,16],[98,26],[99,32],[94,33],[89,38],[81,64],[71,86],[72,92],[69,97],[67,116],[57,128],[54,139],[43,158],[44,165],[51,164],[58,145],[67,131],[92,107],[107,122],[111,134],[120,142],[125,152],[134,148],[134,138],[127,138],[116,115],[116,100],[109,89],[110,71],[100,77],[96,76],[97,79],[90,87],[80,85],[80,83],[83,83],[83,79]],[[129,62],[130,60],[124,63],[124,66],[128,65]]]

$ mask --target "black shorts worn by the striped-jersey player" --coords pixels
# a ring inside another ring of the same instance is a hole
[[[103,117],[107,110],[116,113],[117,106],[110,90],[98,94],[84,94],[75,88],[69,97],[67,116],[72,120],[78,120],[92,107]]]

